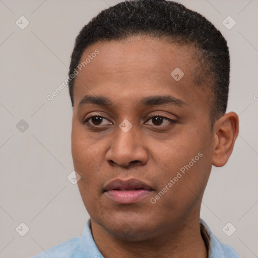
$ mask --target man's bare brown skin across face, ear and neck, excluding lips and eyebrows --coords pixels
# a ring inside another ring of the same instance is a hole
[[[212,165],[223,166],[233,150],[237,114],[226,113],[211,128],[211,95],[207,86],[193,83],[191,45],[134,36],[97,42],[81,60],[95,49],[100,53],[75,80],[72,155],[96,245],[106,258],[114,253],[126,258],[207,257],[199,225],[201,200]],[[170,76],[175,68],[184,73],[179,81]],[[85,95],[106,97],[111,105],[79,105]],[[143,98],[164,95],[185,104],[140,104]],[[83,122],[94,115],[104,118]],[[124,119],[133,125],[127,133],[118,126]],[[151,203],[198,153],[203,156]],[[103,193],[116,178],[137,178],[154,190],[138,203],[117,204]]]

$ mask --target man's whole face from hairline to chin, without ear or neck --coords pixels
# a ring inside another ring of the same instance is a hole
[[[75,81],[72,155],[92,221],[144,240],[199,220],[214,133],[193,48],[133,37],[97,42],[81,61],[89,55]]]

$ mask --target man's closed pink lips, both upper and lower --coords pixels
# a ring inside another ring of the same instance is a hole
[[[104,189],[104,194],[119,204],[137,203],[153,191],[147,183],[131,178],[129,180],[114,179]]]

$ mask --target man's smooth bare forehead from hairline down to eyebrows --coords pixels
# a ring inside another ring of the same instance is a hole
[[[89,93],[121,99],[162,92],[189,102],[197,87],[193,83],[195,48],[190,44],[143,36],[97,42],[84,51],[83,62],[75,80],[75,106]]]

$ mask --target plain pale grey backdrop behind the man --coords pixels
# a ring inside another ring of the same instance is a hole
[[[81,235],[89,218],[77,184],[67,179],[73,171],[68,89],[52,101],[46,96],[66,79],[80,29],[118,2],[0,0],[0,257],[29,257]],[[226,37],[231,54],[228,111],[240,119],[228,163],[213,167],[201,217],[243,257],[258,257],[258,1],[180,3],[203,14]],[[21,16],[30,22],[24,30],[16,25]],[[236,21],[230,30],[222,24],[228,16]],[[21,119],[29,124],[24,132],[16,127]],[[23,237],[16,231],[21,222],[29,227]],[[236,228],[231,236],[222,231],[228,222]]]

